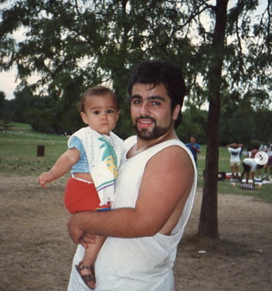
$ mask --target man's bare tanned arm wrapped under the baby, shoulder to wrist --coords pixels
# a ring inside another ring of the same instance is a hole
[[[186,151],[178,146],[168,147],[148,161],[135,208],[73,214],[67,224],[70,236],[81,243],[84,233],[143,237],[162,230],[167,234],[182,213],[193,178],[193,164]]]

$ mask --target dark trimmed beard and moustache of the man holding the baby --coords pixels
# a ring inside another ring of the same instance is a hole
[[[142,128],[142,129],[138,129],[137,128],[137,121],[139,119],[150,119],[154,122],[154,128],[152,129],[152,131],[148,131],[148,129],[146,128]],[[149,116],[140,116],[136,119],[135,124],[133,125],[136,134],[138,137],[140,137],[141,139],[144,139],[146,141],[150,141],[152,139],[157,139],[161,136],[163,136],[164,134],[166,134],[169,129],[172,127],[173,123],[169,123],[169,125],[167,127],[161,127],[159,125],[156,125],[156,120],[152,117]]]

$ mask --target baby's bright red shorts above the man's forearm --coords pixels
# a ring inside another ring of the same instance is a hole
[[[110,203],[99,206],[100,199],[93,183],[86,183],[74,178],[69,178],[64,194],[64,204],[70,213],[86,210],[107,210]]]

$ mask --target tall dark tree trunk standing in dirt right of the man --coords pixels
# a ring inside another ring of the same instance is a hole
[[[207,153],[200,220],[199,237],[218,238],[217,183],[218,183],[218,132],[220,120],[220,90],[222,84],[222,65],[224,41],[227,24],[227,3],[217,0],[215,7],[216,22],[212,44],[211,67],[209,73],[209,112],[207,120]]]

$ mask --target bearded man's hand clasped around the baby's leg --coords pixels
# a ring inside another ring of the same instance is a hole
[[[79,226],[79,218],[81,212],[72,214],[67,222],[68,233],[76,244],[81,244],[85,249],[88,244],[94,244],[97,239],[96,235],[84,233],[82,228]]]

